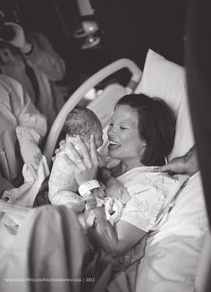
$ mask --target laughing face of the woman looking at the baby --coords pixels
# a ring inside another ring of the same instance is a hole
[[[108,154],[127,162],[141,160],[146,142],[139,138],[139,118],[137,112],[127,105],[119,105],[114,110],[107,135]]]

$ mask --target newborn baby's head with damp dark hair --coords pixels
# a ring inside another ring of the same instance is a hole
[[[87,146],[91,134],[95,137],[97,148],[103,144],[102,125],[93,111],[87,107],[72,109],[66,117],[63,130],[71,137],[79,135]]]

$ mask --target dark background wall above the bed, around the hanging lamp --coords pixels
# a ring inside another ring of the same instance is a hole
[[[76,0],[17,0],[28,30],[42,31],[63,56],[68,75],[92,74],[128,57],[142,69],[148,48],[184,64],[188,0],[91,0],[94,15],[81,16]],[[95,19],[99,46],[80,50],[72,38],[84,19]]]

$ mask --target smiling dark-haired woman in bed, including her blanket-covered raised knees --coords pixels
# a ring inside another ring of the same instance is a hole
[[[161,99],[150,99],[141,94],[120,99],[108,128],[108,154],[121,161],[114,167],[112,174],[131,196],[123,206],[120,219],[113,227],[105,219],[104,208],[97,206],[96,197],[102,189],[96,180],[99,165],[96,144],[94,137],[91,137],[89,151],[79,138],[82,156],[71,145],[73,159],[66,159],[72,163],[80,185],[79,193],[85,198],[84,218],[92,247],[89,248],[87,237],[81,234],[78,220],[66,207],[41,207],[30,211],[13,245],[4,253],[1,274],[5,278],[8,275],[10,278],[83,277],[82,283],[72,284],[72,290],[81,287],[91,290],[94,285],[97,291],[100,285],[103,291],[114,271],[124,271],[115,273],[115,280],[113,277],[110,285],[111,290],[118,291],[114,283],[125,284],[122,281],[125,273],[129,273],[130,279],[135,276],[148,232],[156,230],[165,220],[170,202],[181,186],[177,180],[156,173],[154,167],[151,167],[165,162],[165,156],[173,148],[174,131],[173,113]],[[36,238],[40,238],[39,244]],[[19,241],[21,245],[17,249]],[[26,250],[30,257],[26,256]],[[5,269],[8,257],[11,259],[13,254],[20,269],[8,272]],[[56,264],[55,269],[52,268],[53,263]],[[25,269],[26,264],[29,270]],[[135,285],[135,279],[131,279],[131,283]],[[26,284],[21,285],[21,291],[29,288]],[[61,285],[62,291],[70,289]],[[53,291],[53,287],[51,283],[48,290]],[[134,286],[131,290],[134,290]]]

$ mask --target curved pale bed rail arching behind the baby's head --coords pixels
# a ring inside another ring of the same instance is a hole
[[[98,96],[96,100],[94,99],[93,101],[90,102],[89,108],[93,109],[94,112],[96,112],[96,110],[92,107],[92,103],[93,103],[93,106],[96,106],[97,104],[97,110],[98,110],[100,106],[99,101],[102,101],[103,99],[105,101],[108,95],[110,97],[112,96],[119,99],[121,95],[133,92],[139,84],[139,81],[142,76],[142,72],[137,66],[137,64],[135,64],[130,59],[124,58],[124,59],[117,60],[112,64],[108,64],[103,69],[101,69],[100,71],[98,71],[97,73],[89,77],[89,79],[83,84],[81,84],[80,87],[77,90],[75,90],[70,96],[70,98],[65,102],[62,109],[60,110],[58,115],[55,117],[55,122],[53,123],[46,139],[44,155],[46,156],[48,166],[51,165],[51,159],[55,150],[55,144],[57,142],[59,134],[61,133],[63,129],[63,124],[68,113],[74,107],[78,105],[78,103],[80,102],[80,99],[83,99],[86,93],[90,89],[97,86],[99,82],[104,81],[105,78],[109,77],[110,75],[124,68],[128,69],[131,72],[131,79],[128,82],[128,84],[125,86],[125,88],[119,83],[108,85],[107,90],[105,88],[105,90],[103,90],[101,95]],[[112,100],[114,101],[114,99]],[[108,104],[109,102],[106,102],[106,103]],[[99,113],[99,110],[98,110],[98,113]],[[100,118],[99,115],[97,116]]]

